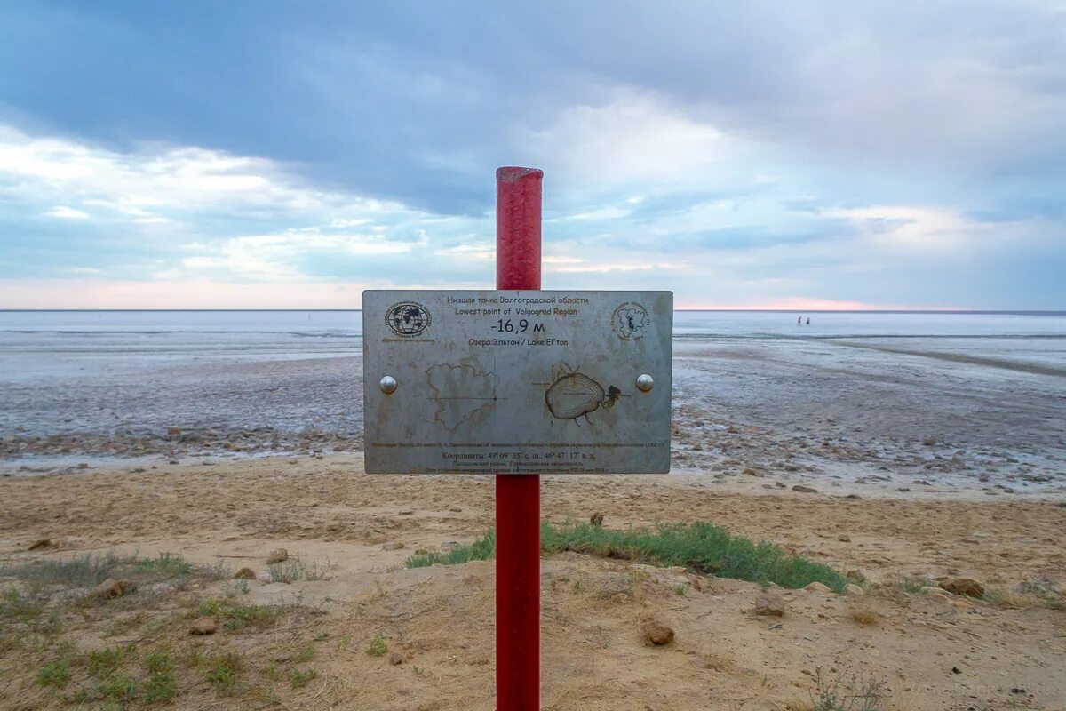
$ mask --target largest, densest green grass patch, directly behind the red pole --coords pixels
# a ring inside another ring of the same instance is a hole
[[[413,555],[406,565],[417,568],[435,563],[454,565],[486,560],[495,552],[495,543],[490,531],[447,553]],[[772,543],[731,536],[724,529],[705,522],[663,523],[655,530],[624,531],[587,523],[554,526],[544,522],[540,524],[540,551],[546,554],[575,551],[660,566],[681,566],[698,573],[775,583],[793,589],[818,581],[835,591],[843,591],[849,582],[826,565],[790,555]]]

